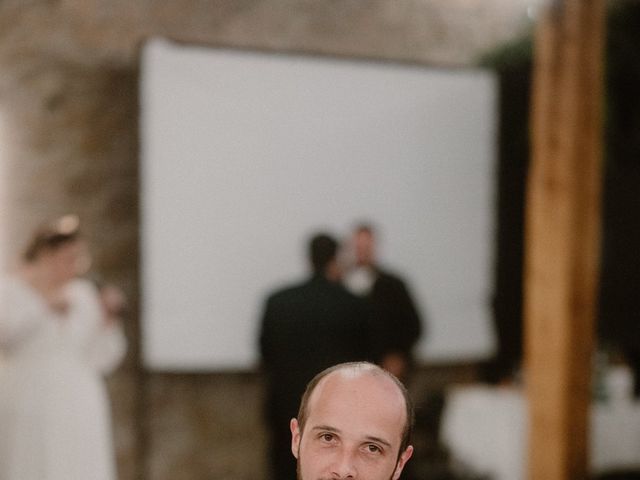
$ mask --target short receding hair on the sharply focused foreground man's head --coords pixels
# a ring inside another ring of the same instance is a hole
[[[411,397],[409,396],[409,392],[407,392],[406,387],[402,384],[400,380],[396,378],[392,373],[380,368],[378,365],[374,365],[369,362],[347,362],[340,363],[338,365],[334,365],[333,367],[329,367],[322,372],[318,373],[311,381],[307,384],[307,388],[302,395],[302,400],[300,402],[300,409],[298,410],[298,425],[300,427],[300,432],[304,430],[305,423],[309,416],[309,399],[313,394],[313,391],[318,386],[318,384],[325,377],[329,376],[333,372],[337,372],[340,370],[355,370],[366,372],[374,376],[385,376],[393,381],[396,384],[402,396],[404,398],[404,404],[406,408],[406,421],[404,428],[402,429],[402,438],[400,442],[400,450],[398,451],[398,456],[402,452],[404,452],[409,443],[411,442],[411,434],[413,433],[413,424],[415,422],[415,413],[413,408],[413,402],[411,401]]]

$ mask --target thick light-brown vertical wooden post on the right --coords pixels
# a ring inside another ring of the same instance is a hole
[[[525,243],[529,480],[588,478],[604,19],[604,0],[556,0],[536,31]]]

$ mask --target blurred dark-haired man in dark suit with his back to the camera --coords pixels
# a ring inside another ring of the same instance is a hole
[[[266,302],[260,351],[267,375],[273,480],[296,478],[289,423],[307,382],[331,365],[372,358],[367,305],[340,283],[337,250],[329,235],[314,236],[311,278]]]

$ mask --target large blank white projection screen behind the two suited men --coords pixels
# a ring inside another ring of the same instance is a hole
[[[427,319],[419,360],[490,355],[496,124],[488,71],[150,41],[145,367],[255,368],[267,294],[361,220]]]

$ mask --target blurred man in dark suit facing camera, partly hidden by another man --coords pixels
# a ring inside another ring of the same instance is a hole
[[[354,229],[352,247],[355,265],[345,281],[349,290],[371,305],[378,332],[376,362],[406,382],[412,349],[423,330],[418,309],[405,282],[377,264],[371,225]]]

